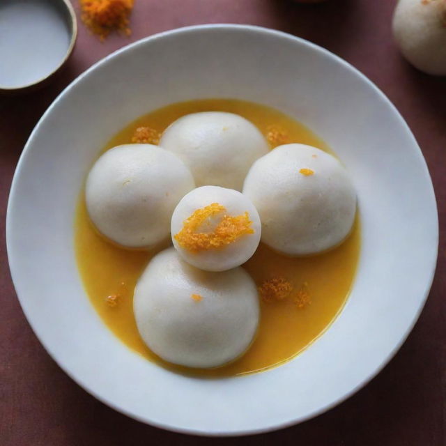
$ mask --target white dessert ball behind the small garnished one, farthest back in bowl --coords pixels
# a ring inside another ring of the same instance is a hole
[[[174,152],[190,168],[197,186],[241,190],[252,163],[268,153],[256,126],[225,112],[193,113],[179,118],[162,134],[160,146]]]

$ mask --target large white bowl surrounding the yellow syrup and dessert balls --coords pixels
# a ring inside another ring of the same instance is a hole
[[[118,129],[171,102],[215,97],[277,107],[334,148],[357,188],[362,251],[346,307],[306,351],[260,374],[199,379],[148,362],[102,323],[77,272],[73,219],[86,172]],[[17,166],[7,243],[29,323],[79,385],[154,426],[233,435],[314,417],[383,368],[429,292],[438,218],[417,142],[366,77],[284,33],[209,25],[129,45],[59,95]]]

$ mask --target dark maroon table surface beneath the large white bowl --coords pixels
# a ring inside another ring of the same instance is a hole
[[[77,6],[77,0],[73,3]],[[300,6],[286,0],[136,0],[130,38],[110,36],[100,43],[79,22],[72,59],[52,84],[28,95],[0,98],[0,445],[446,445],[446,77],[424,75],[401,58],[390,30],[395,3],[331,0]],[[399,353],[337,408],[259,436],[210,439],[170,433],[131,420],[91,397],[59,369],[34,336],[17,301],[6,256],[4,224],[15,165],[56,95],[119,47],[153,33],[203,23],[286,31],[329,49],[364,72],[414,132],[438,201],[436,276],[420,320]]]

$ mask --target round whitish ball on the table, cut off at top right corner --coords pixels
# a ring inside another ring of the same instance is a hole
[[[446,1],[399,0],[393,33],[413,66],[429,75],[446,75]]]

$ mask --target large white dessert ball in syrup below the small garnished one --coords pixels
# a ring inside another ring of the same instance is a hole
[[[134,293],[142,339],[163,360],[219,367],[245,353],[259,325],[254,281],[243,268],[206,272],[174,248],[157,254]]]

